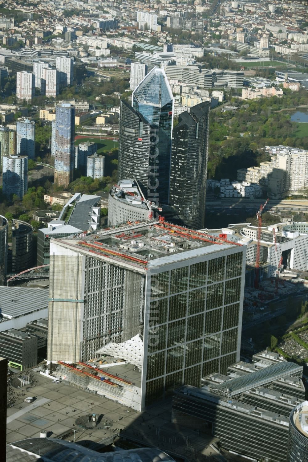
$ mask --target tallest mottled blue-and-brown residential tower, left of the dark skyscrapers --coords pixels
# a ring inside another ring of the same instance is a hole
[[[52,124],[54,139],[54,182],[65,188],[73,180],[75,108],[69,103],[57,104]]]

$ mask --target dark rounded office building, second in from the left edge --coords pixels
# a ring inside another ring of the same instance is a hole
[[[33,228],[29,223],[12,220],[12,273],[33,266]]]

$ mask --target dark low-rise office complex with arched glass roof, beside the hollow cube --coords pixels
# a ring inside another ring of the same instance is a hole
[[[246,364],[246,363],[244,363]],[[232,375],[210,374],[202,388],[184,386],[173,397],[173,422],[212,435],[220,446],[245,457],[283,462],[287,457],[289,414],[302,401],[302,387],[293,395],[275,390],[275,383],[301,382],[302,366],[263,360],[253,371],[237,368]],[[228,368],[230,374],[230,368]]]

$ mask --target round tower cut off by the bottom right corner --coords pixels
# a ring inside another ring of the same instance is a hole
[[[287,462],[308,462],[308,401],[290,413]]]

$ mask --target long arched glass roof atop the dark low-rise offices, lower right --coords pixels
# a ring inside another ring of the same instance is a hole
[[[226,380],[221,384],[213,383],[209,385],[209,391],[217,393],[218,395],[231,397],[292,374],[302,374],[302,367],[294,363],[283,361],[261,369],[260,371]]]

